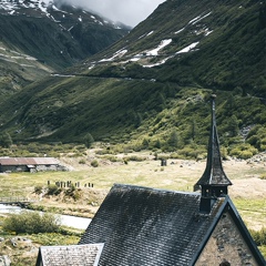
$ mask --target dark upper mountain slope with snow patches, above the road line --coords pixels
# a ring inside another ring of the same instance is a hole
[[[222,90],[244,86],[262,94],[265,10],[265,2],[257,1],[166,1],[113,49],[89,59],[89,68],[104,63],[104,71],[85,73],[115,76],[123,65],[124,76]],[[133,63],[140,71],[132,71]]]

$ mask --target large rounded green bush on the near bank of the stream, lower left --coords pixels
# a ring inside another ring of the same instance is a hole
[[[2,228],[6,232],[16,232],[16,234],[52,233],[60,231],[60,221],[52,214],[22,212],[6,218]]]

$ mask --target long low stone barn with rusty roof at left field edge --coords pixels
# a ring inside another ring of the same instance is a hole
[[[0,157],[0,173],[62,171],[54,157]]]

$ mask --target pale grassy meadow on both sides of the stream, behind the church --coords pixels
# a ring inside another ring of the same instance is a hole
[[[160,156],[170,157],[168,154]],[[0,197],[24,196],[37,201],[30,205],[31,208],[93,217],[114,183],[193,192],[193,186],[202,176],[206,165],[205,160],[168,158],[166,166],[162,166],[161,160],[155,158],[156,156],[150,152],[100,155],[95,150],[89,150],[86,156],[62,156],[60,158],[61,163],[69,167],[68,172],[0,174]],[[253,235],[257,232],[260,237],[262,232],[265,232],[266,224],[266,167],[264,161],[227,160],[223,162],[223,165],[233,183],[233,186],[229,187],[233,203]],[[78,193],[75,197],[66,193],[66,187],[58,195],[41,196],[38,193],[40,188],[48,187],[48,182],[53,185],[55,182],[68,181],[71,181],[72,184],[80,184],[75,188]],[[28,235],[27,237],[34,243],[35,252],[19,260],[17,258],[25,249],[13,249],[10,257],[17,265],[34,265],[38,246],[76,244],[81,233],[70,232],[64,236],[60,234]],[[9,236],[7,233],[3,233],[3,236],[6,242],[2,245],[10,245],[9,242],[13,236]],[[2,247],[0,249],[3,252]],[[259,246],[259,249],[265,256],[265,245]]]

